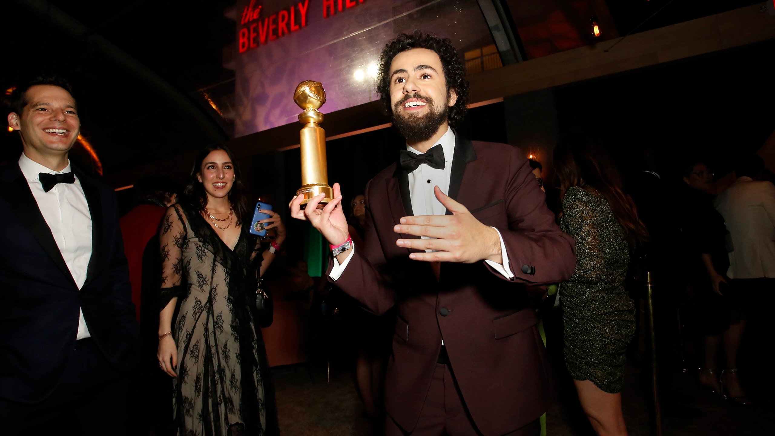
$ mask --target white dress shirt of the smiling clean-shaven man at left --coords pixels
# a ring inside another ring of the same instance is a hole
[[[91,259],[91,213],[81,182],[75,178],[72,184],[58,183],[49,192],[43,191],[39,173],[62,174],[72,171],[70,161],[63,171],[53,171],[33,161],[26,154],[19,157],[19,168],[33,192],[38,209],[46,220],[53,239],[73,275],[78,289],[86,282],[86,271]],[[84,312],[78,315],[76,340],[91,337],[84,320]]]

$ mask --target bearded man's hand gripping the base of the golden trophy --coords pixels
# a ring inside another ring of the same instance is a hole
[[[347,219],[342,210],[342,192],[339,189],[339,183],[334,183],[334,199],[325,205],[323,209],[318,209],[318,204],[325,198],[324,194],[313,197],[305,209],[301,209],[301,200],[304,196],[294,196],[288,207],[291,209],[291,216],[297,220],[307,220],[315,227],[320,234],[329,241],[329,244],[339,245],[347,240],[350,234],[347,229]]]

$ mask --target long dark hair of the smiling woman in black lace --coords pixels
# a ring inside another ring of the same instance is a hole
[[[232,202],[234,208],[234,215],[237,219],[237,225],[242,225],[243,222],[250,220],[250,213],[253,212],[250,207],[250,198],[247,193],[247,188],[242,180],[242,173],[239,172],[239,164],[237,164],[234,154],[229,150],[229,147],[225,145],[208,145],[203,148],[199,154],[196,155],[194,160],[194,166],[191,167],[191,174],[188,175],[188,185],[183,191],[185,200],[191,204],[191,206],[202,213],[207,206],[207,193],[205,192],[205,186],[202,182],[199,182],[197,174],[202,171],[202,162],[205,161],[205,157],[208,154],[216,150],[226,151],[229,155],[229,161],[232,162],[234,168],[234,183],[232,183],[232,189],[229,191],[229,201]]]

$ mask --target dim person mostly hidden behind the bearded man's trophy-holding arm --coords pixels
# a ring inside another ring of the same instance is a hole
[[[366,227],[366,197],[358,194],[350,202],[348,223],[353,243],[363,245]],[[377,317],[356,307],[353,310],[353,333],[358,347],[355,366],[356,382],[366,414],[372,418],[384,414],[383,391],[385,364],[390,355],[390,338],[393,334],[393,313]]]

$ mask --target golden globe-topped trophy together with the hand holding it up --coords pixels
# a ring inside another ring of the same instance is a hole
[[[339,206],[342,201],[339,184],[328,185],[325,161],[325,130],[319,126],[323,114],[318,112],[325,103],[325,89],[319,81],[302,81],[294,93],[294,102],[304,112],[298,115],[301,129],[301,188],[288,203],[291,216],[308,220],[329,244],[342,244],[349,235],[347,220]]]

